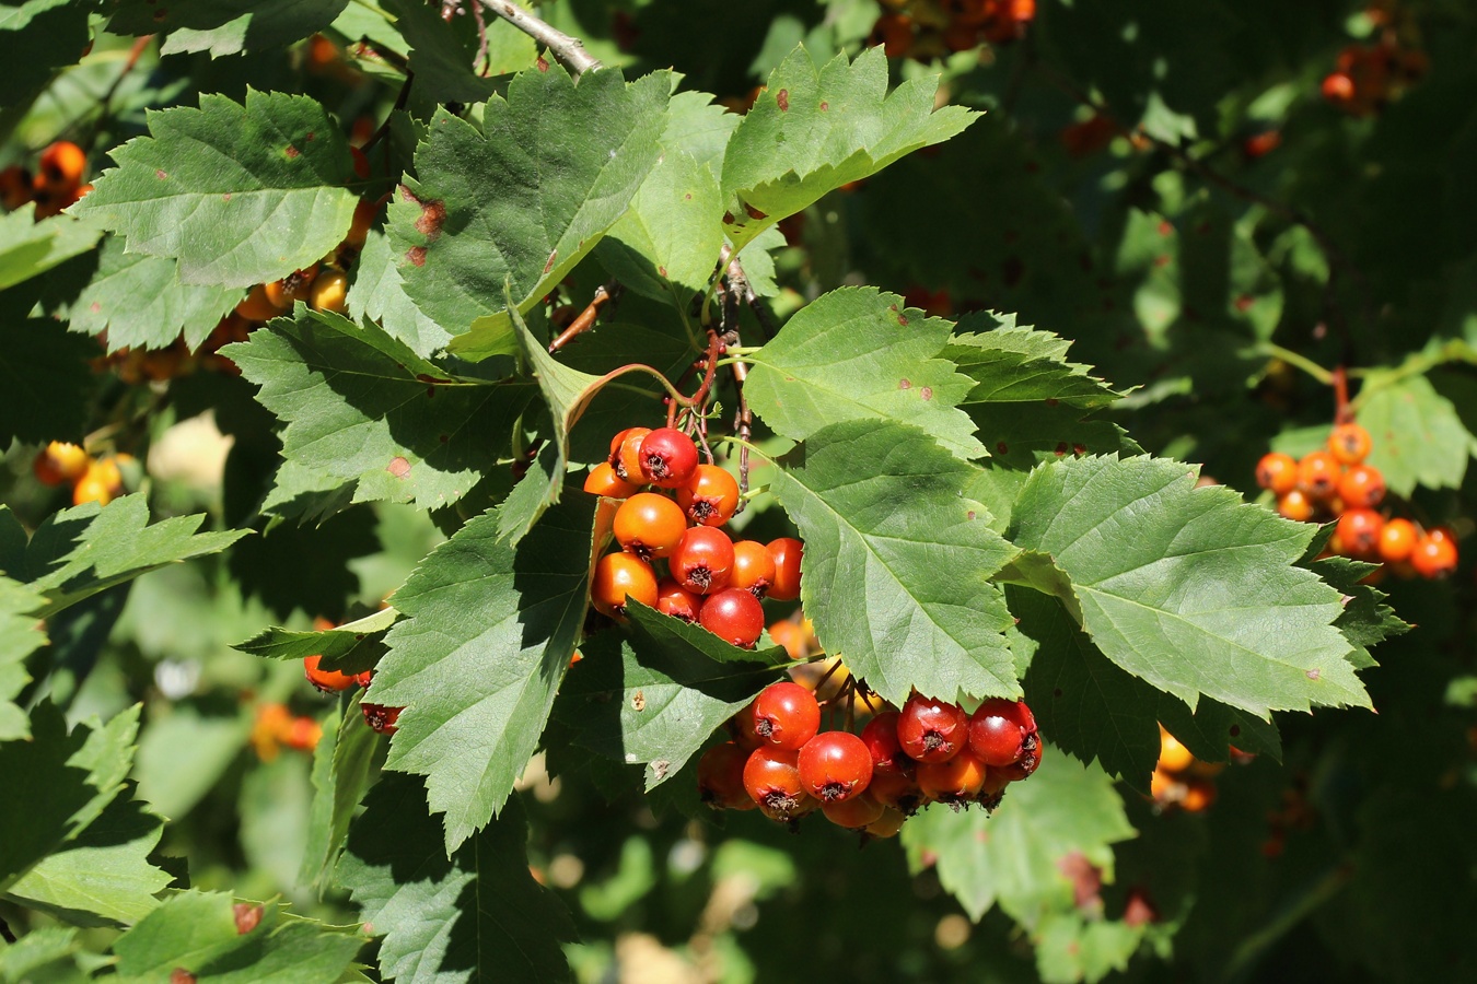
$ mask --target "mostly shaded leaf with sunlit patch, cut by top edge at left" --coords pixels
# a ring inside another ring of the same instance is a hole
[[[285,47],[322,31],[349,0],[192,0],[160,6],[118,0],[114,34],[168,34],[161,53],[210,52],[211,58]]]

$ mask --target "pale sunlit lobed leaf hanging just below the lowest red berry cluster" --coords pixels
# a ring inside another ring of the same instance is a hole
[[[1134,835],[1112,780],[1050,745],[1041,767],[1006,789],[994,813],[953,813],[932,805],[902,826],[902,845],[917,870],[933,859],[939,884],[976,922],[995,903],[1034,928],[1050,910],[1072,904],[1071,878],[1059,862],[1081,854],[1112,881],[1112,844]]]

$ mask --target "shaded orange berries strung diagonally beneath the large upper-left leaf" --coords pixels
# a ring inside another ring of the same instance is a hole
[[[369,179],[369,158],[359,148],[350,148],[354,159],[354,174]],[[303,270],[294,270],[281,280],[258,283],[236,304],[235,310],[220,319],[198,351],[191,351],[183,338],[174,339],[167,348],[130,350],[120,348],[112,356],[95,363],[95,369],[111,367],[127,384],[164,382],[186,376],[198,369],[238,375],[236,364],[220,354],[230,342],[244,342],[263,322],[292,310],[295,301],[304,301],[315,311],[343,314],[349,297],[349,274],[369,238],[369,226],[385,199],[362,199],[354,207],[349,235],[321,263]]]

